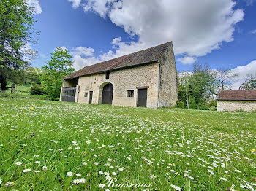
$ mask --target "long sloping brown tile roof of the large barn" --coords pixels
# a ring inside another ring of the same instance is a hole
[[[83,69],[75,71],[73,74],[70,74],[64,79],[72,79],[75,77],[85,76],[87,74],[97,74],[104,71],[132,67],[143,63],[155,62],[159,60],[162,53],[166,50],[166,48],[169,45],[172,45],[172,42],[160,44],[156,47],[151,47],[146,50],[140,50],[138,52],[134,52],[129,55],[123,55],[118,58],[113,58],[109,61],[104,61],[101,63],[96,63],[91,66],[86,66]]]

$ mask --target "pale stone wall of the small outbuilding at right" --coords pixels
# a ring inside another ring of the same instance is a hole
[[[256,110],[256,101],[218,100],[218,111],[236,112],[237,109],[243,109],[244,112]]]

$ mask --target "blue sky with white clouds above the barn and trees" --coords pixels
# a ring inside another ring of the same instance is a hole
[[[173,42],[178,71],[193,63],[238,74],[234,88],[256,75],[256,0],[26,0],[34,7],[41,67],[56,47],[76,70]]]

